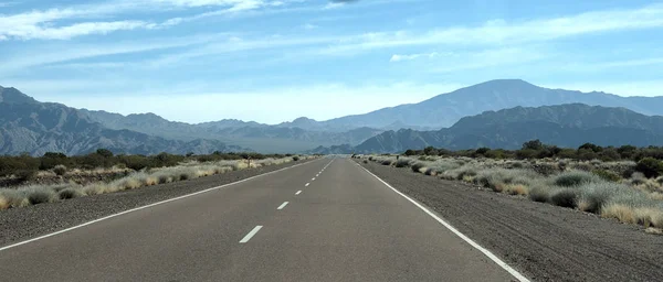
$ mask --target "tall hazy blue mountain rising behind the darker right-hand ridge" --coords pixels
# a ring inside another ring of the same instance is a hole
[[[319,121],[312,127],[344,130],[354,127],[394,129],[393,124],[397,124],[399,129],[439,130],[452,126],[463,117],[487,110],[573,102],[623,107],[644,115],[663,115],[663,97],[621,97],[601,91],[549,89],[522,79],[496,79],[441,94],[418,104]]]

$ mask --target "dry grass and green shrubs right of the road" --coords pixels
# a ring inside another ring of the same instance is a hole
[[[652,232],[663,228],[662,149],[593,144],[577,150],[551,148],[535,140],[515,151],[427,148],[398,156],[355,158],[642,225]]]

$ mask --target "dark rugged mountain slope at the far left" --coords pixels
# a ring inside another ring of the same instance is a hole
[[[126,129],[108,129],[77,109],[39,102],[15,88],[0,87],[0,154],[62,152],[72,155],[99,148],[130,154],[249,150],[218,140],[175,141]]]

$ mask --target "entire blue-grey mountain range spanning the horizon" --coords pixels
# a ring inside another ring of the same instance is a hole
[[[590,107],[596,105],[602,107]],[[80,154],[97,148],[127,153],[399,152],[427,145],[513,149],[535,138],[561,147],[659,144],[661,118],[645,115],[663,115],[663,97],[548,89],[519,79],[491,80],[364,115],[278,124],[233,119],[190,124],[154,113],[77,110],[0,87],[0,153]]]

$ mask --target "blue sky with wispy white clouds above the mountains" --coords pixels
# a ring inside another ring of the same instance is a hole
[[[663,95],[663,3],[0,0],[0,85],[200,122],[325,120],[495,78]]]

